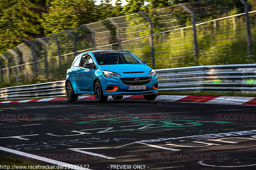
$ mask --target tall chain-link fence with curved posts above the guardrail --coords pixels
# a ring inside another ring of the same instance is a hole
[[[0,55],[0,86],[63,80],[74,56],[94,48],[128,50],[163,69],[255,63],[255,43],[256,5],[201,0],[26,41]]]

